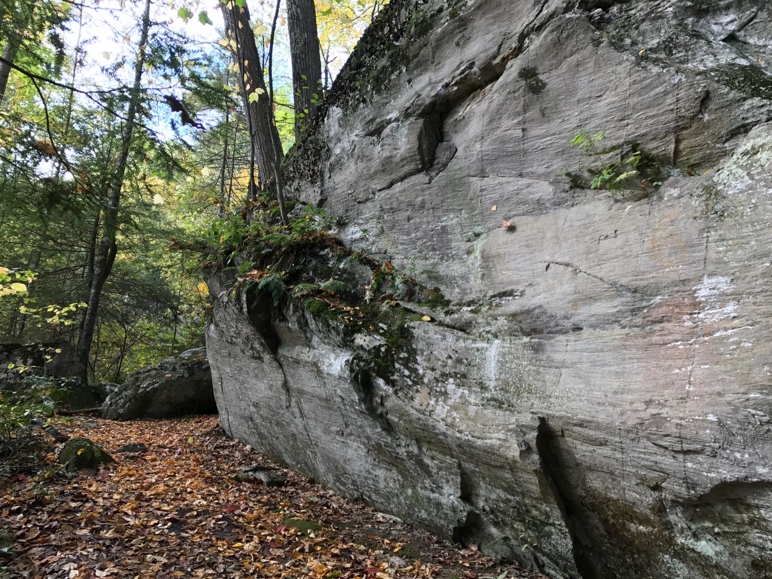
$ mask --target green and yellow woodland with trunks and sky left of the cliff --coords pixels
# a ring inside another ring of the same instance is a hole
[[[93,382],[202,344],[203,267],[289,226],[283,156],[384,3],[0,1],[0,343]]]

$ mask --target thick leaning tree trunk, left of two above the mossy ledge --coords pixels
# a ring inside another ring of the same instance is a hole
[[[228,6],[232,8],[228,8]],[[273,110],[268,98],[266,83],[262,77],[262,63],[255,35],[249,25],[249,8],[239,8],[234,2],[221,3],[222,18],[225,20],[225,35],[236,43],[236,63],[239,65],[239,86],[242,89],[247,120],[251,125],[252,147],[256,152],[259,178],[267,183],[283,159],[279,131],[273,122]],[[262,91],[262,93],[260,92]],[[259,93],[257,100],[249,102],[249,95]]]

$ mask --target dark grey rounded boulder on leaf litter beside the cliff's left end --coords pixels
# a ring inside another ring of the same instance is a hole
[[[175,418],[216,411],[204,347],[129,374],[102,405],[102,417],[110,420]]]

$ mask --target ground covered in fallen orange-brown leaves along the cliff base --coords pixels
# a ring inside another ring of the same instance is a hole
[[[341,498],[228,438],[216,416],[71,429],[117,462],[0,483],[10,577],[541,577]],[[117,452],[140,442],[147,452]],[[286,485],[231,478],[252,464]]]

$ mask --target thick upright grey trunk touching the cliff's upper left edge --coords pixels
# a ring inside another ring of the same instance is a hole
[[[322,97],[322,63],[319,56],[317,9],[313,0],[287,0],[289,52],[295,93],[295,140],[308,126]]]

